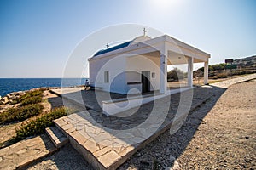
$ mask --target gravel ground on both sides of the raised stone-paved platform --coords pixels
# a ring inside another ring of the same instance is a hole
[[[219,89],[187,117],[137,151],[123,169],[256,169],[256,81]],[[67,144],[29,169],[91,169]]]

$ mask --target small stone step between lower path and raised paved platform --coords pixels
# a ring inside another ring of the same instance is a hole
[[[49,139],[57,148],[61,148],[63,145],[68,143],[67,137],[61,133],[61,130],[58,127],[47,127],[45,131],[48,134]]]

